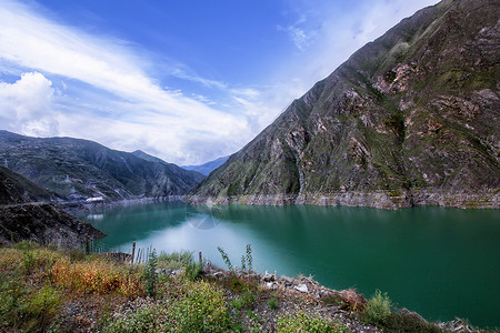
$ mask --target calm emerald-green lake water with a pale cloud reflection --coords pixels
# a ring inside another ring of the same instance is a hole
[[[128,252],[190,250],[234,265],[250,243],[259,272],[313,275],[321,284],[388,292],[431,321],[500,326],[500,211],[413,208],[191,206],[154,203],[79,216]],[[198,255],[197,255],[198,256]]]

